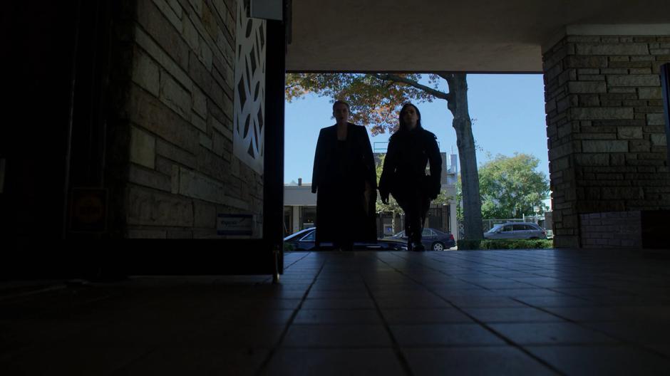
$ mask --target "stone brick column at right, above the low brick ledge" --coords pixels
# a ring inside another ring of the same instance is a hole
[[[544,48],[557,247],[588,246],[579,214],[670,208],[659,78],[670,32],[626,30],[569,27]]]

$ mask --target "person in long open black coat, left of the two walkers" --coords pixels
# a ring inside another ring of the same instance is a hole
[[[365,127],[347,121],[349,104],[336,101],[333,116],[337,123],[321,129],[314,154],[316,246],[350,250],[354,241],[377,239],[375,164]]]

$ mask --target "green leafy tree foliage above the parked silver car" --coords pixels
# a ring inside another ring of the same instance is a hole
[[[484,219],[519,218],[544,212],[549,181],[537,172],[540,160],[532,155],[498,155],[479,167],[479,187]]]

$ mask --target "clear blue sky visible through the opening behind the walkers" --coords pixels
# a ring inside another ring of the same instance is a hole
[[[468,75],[468,105],[475,119],[473,134],[478,146],[477,162],[487,160],[487,152],[511,156],[515,152],[540,159],[537,169],[549,176],[547,130],[545,123],[544,84],[541,74]],[[448,91],[446,83],[440,88]],[[456,147],[453,117],[444,100],[417,103],[421,124],[435,133],[440,150],[448,154]],[[307,95],[286,104],[284,182],[311,182],[314,148],[319,130],[335,124],[330,98]],[[370,137],[370,142],[385,142],[388,133]],[[460,167],[459,167],[460,170]]]

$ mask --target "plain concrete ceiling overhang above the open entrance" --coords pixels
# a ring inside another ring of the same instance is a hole
[[[542,46],[567,26],[636,26],[640,35],[670,23],[669,0],[293,0],[292,8],[294,72],[542,72]]]

